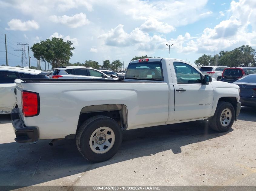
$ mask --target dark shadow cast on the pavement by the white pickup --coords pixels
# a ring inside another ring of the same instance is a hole
[[[91,163],[83,158],[75,140],[61,140],[54,146],[48,145],[50,140],[32,145],[0,144],[0,186],[31,186],[162,151],[179,154],[184,145],[214,139],[229,132],[209,129],[206,120],[128,130],[123,132],[118,153],[101,163]]]

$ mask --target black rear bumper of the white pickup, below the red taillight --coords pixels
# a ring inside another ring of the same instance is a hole
[[[12,126],[16,135],[14,139],[18,143],[36,142],[38,140],[38,129],[36,127],[26,127],[20,119],[18,108],[14,108],[11,113]]]

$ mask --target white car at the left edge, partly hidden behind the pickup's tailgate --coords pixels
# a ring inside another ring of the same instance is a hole
[[[0,66],[0,114],[11,113],[17,107],[14,94],[16,78],[48,78],[46,74],[41,70]]]

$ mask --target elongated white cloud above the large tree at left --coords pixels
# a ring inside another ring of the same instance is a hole
[[[74,16],[67,16],[67,15],[56,16],[56,15],[52,15],[52,16],[49,17],[49,19],[52,22],[65,24],[65,25],[67,25],[68,27],[71,27],[71,28],[81,27],[85,24],[90,23],[90,21],[86,18],[86,14],[84,14],[84,13],[75,14]]]

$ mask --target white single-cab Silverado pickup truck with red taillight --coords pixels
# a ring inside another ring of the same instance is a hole
[[[212,81],[178,59],[130,62],[125,80],[16,79],[12,125],[19,143],[75,138],[89,161],[115,155],[121,130],[209,119],[228,131],[240,113],[238,85]],[[161,128],[161,127],[159,127]]]

